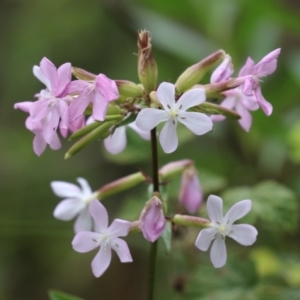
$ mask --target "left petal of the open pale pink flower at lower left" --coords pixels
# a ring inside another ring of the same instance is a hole
[[[73,249],[80,253],[89,252],[99,246],[100,235],[97,232],[81,231],[72,241]]]

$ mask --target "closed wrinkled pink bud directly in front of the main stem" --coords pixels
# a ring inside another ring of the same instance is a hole
[[[162,210],[160,199],[153,196],[140,215],[140,228],[144,238],[150,242],[155,242],[163,233],[166,219]]]

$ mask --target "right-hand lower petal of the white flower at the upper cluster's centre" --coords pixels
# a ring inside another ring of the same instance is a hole
[[[212,130],[213,122],[205,114],[197,112],[181,112],[178,121],[197,135],[202,135]]]

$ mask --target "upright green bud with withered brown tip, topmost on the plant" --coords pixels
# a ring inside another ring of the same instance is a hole
[[[150,93],[156,89],[157,84],[157,66],[151,54],[150,33],[142,30],[138,34],[138,76],[143,84],[145,91]]]

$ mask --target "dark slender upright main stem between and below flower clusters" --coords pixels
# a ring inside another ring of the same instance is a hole
[[[159,192],[156,128],[151,130],[151,148],[152,148],[153,192]],[[150,248],[148,300],[154,299],[154,281],[155,281],[155,268],[156,268],[156,257],[157,257],[157,244],[158,243],[156,240],[154,243],[151,244],[151,248]]]

